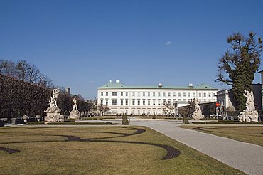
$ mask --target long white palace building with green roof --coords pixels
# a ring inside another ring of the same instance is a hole
[[[190,100],[198,102],[216,102],[217,88],[201,84],[186,87],[163,86],[132,86],[124,85],[119,80],[97,88],[98,105],[107,105],[110,109],[109,115],[163,115],[163,102],[173,104],[177,102],[178,107],[188,105]]]

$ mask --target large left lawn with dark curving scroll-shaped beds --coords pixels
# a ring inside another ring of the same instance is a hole
[[[244,174],[147,127],[142,134],[134,127],[2,127],[1,174]],[[118,134],[119,133],[119,134]],[[112,142],[64,142],[72,135],[80,139],[166,144],[181,155],[161,160],[166,150],[149,144]],[[114,137],[103,139],[103,137]],[[97,139],[96,139],[97,138]]]

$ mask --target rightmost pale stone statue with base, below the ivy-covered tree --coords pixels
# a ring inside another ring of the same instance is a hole
[[[253,91],[244,90],[244,96],[247,97],[246,109],[237,116],[240,122],[259,122],[259,113],[254,107]]]

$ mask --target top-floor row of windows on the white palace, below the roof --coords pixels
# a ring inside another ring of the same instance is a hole
[[[128,96],[128,92],[119,92],[120,93],[120,96]],[[186,92],[136,92],[137,93],[137,97],[140,97],[141,95],[143,97],[147,96],[148,97],[161,97],[161,95],[163,95],[163,97],[171,97],[171,95],[173,95],[173,97],[186,97]],[[135,97],[136,95],[135,92],[132,92],[132,96]],[[176,95],[177,93],[177,95]],[[215,97],[215,93],[211,93],[211,92],[203,92],[203,97],[212,97],[212,94],[213,96]],[[100,96],[109,96],[109,92],[100,92]],[[112,92],[112,96],[113,97],[116,97],[117,96],[117,92]],[[187,96],[188,97],[191,97],[191,92],[187,92]],[[193,97],[195,97],[196,94],[195,92],[193,92]],[[198,97],[202,97],[202,92],[198,92]]]

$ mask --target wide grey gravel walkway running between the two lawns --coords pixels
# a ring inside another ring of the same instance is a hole
[[[181,123],[181,122],[180,122]],[[176,121],[131,119],[247,174],[263,174],[263,147],[178,127]]]

